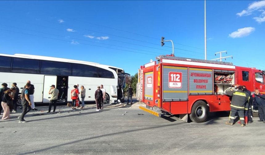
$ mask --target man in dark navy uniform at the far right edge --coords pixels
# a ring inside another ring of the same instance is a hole
[[[255,98],[255,102],[258,105],[258,110],[259,110],[259,120],[258,121],[263,121],[265,123],[265,95],[259,93],[259,89],[255,89],[255,93],[252,95],[252,97]]]

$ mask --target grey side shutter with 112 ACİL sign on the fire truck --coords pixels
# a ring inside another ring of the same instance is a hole
[[[187,67],[163,66],[163,101],[188,100]]]

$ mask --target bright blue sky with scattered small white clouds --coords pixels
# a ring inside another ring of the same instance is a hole
[[[265,69],[265,1],[206,1],[207,59]],[[204,1],[0,1],[0,53],[71,58],[134,75],[156,56],[204,59]],[[168,47],[166,47],[168,46]],[[223,60],[225,61],[225,60]]]

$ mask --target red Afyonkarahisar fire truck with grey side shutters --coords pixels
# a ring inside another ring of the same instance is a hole
[[[229,111],[232,85],[245,85],[254,92],[265,92],[264,72],[255,68],[234,66],[230,62],[161,55],[141,66],[137,96],[146,104],[140,109],[161,116],[179,115],[188,121],[206,121],[209,112]]]

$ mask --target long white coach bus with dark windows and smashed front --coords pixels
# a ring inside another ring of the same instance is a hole
[[[66,78],[65,90],[61,90],[63,78]],[[59,102],[71,102],[71,89],[76,84],[79,84],[80,91],[81,85],[84,85],[85,101],[95,101],[97,86],[104,85],[106,89],[104,101],[114,102],[122,99],[122,89],[128,78],[131,78],[130,75],[124,73],[121,68],[94,62],[27,54],[0,54],[0,83],[7,83],[10,88],[12,83],[16,82],[18,88],[22,90],[30,80],[35,87],[36,103],[49,103],[51,95],[48,91],[51,85],[59,89]],[[65,94],[61,98],[62,92]]]

